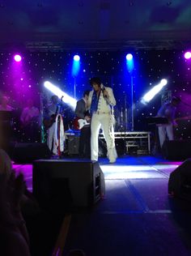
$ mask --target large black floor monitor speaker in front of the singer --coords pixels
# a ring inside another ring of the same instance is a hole
[[[103,193],[104,174],[97,162],[38,160],[33,163],[32,185],[41,205],[91,207]]]

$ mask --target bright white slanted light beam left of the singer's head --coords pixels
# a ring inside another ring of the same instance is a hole
[[[66,92],[63,92],[59,87],[53,85],[53,83],[50,83],[49,81],[45,81],[44,86],[50,91],[53,92],[54,95],[57,95],[59,99],[63,99],[63,101],[70,105],[72,109],[75,109],[76,107],[76,100],[74,98],[70,97]]]

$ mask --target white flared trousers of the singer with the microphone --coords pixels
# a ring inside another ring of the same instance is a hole
[[[93,113],[91,117],[91,160],[98,160],[98,136],[100,128],[103,130],[104,139],[108,149],[108,159],[116,160],[117,151],[115,147],[114,130],[112,126],[112,115],[108,113]]]

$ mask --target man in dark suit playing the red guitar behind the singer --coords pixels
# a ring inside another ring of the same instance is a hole
[[[75,108],[75,114],[77,119],[85,119],[87,122],[91,121],[90,114],[87,109],[87,100],[90,91],[85,91],[83,93],[83,98],[77,101],[77,105]],[[82,158],[90,158],[91,155],[91,127],[90,125],[83,126],[80,130],[80,138],[79,138],[79,156]]]

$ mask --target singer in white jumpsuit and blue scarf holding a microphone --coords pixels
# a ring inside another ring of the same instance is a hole
[[[107,144],[109,162],[114,163],[117,151],[112,126],[112,106],[116,105],[116,100],[112,88],[104,87],[100,78],[91,78],[90,83],[93,90],[89,94],[87,106],[90,106],[91,112],[91,160],[98,160],[98,136],[101,128]]]

